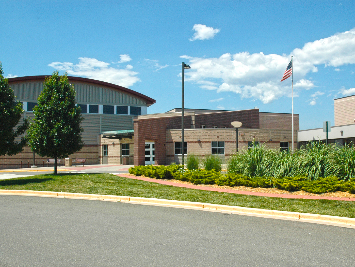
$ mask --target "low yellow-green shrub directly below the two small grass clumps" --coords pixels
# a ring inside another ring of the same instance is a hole
[[[215,170],[179,170],[173,173],[176,180],[187,181],[197,184],[213,185],[215,180],[220,177],[220,172]]]

